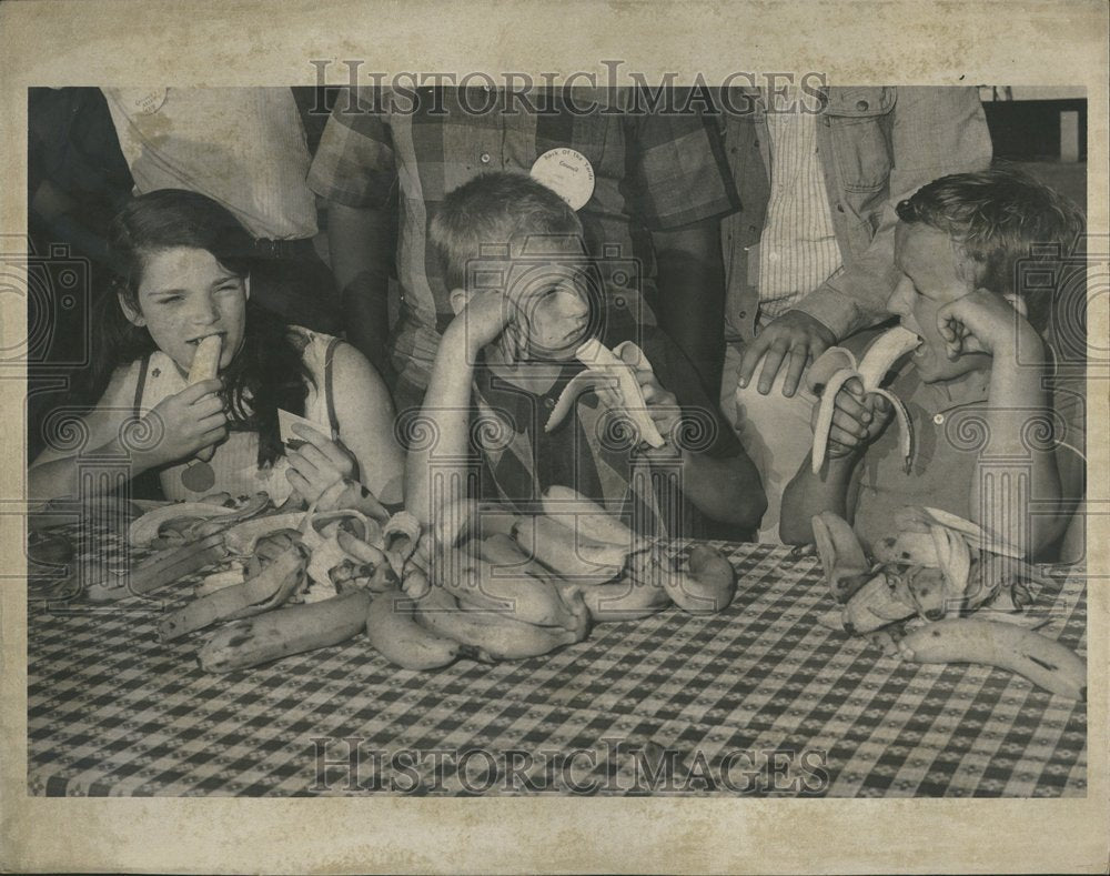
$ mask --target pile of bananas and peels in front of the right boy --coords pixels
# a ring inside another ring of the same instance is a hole
[[[879,540],[869,557],[842,517],[823,512],[813,518],[847,633],[906,659],[998,666],[1086,699],[1086,661],[1031,628],[1040,622],[1027,611],[1030,586],[1048,582],[1019,551],[938,509],[904,509],[895,525],[897,534]],[[968,617],[973,612],[979,616]]]

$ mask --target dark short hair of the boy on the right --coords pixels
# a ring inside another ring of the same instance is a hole
[[[1020,260],[1037,258],[1035,246],[1057,244],[1067,255],[1084,226],[1076,204],[1009,167],[941,177],[901,201],[897,212],[902,222],[947,233],[977,266],[976,283],[998,294],[1025,292],[1016,289],[1015,273]],[[1030,324],[1043,332],[1051,295],[1023,298]]]

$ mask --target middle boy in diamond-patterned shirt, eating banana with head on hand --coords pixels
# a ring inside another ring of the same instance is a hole
[[[648,536],[756,527],[750,460],[662,332],[607,332],[582,225],[555,191],[480,175],[447,195],[431,235],[455,318],[407,424],[405,504],[422,522],[467,495],[528,510],[558,485]]]

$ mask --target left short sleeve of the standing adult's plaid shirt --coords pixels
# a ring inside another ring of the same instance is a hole
[[[346,207],[384,208],[397,171],[389,115],[380,92],[344,90],[320,138],[309,188]]]

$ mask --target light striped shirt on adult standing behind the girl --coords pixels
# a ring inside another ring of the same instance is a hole
[[[135,193],[186,189],[255,238],[316,233],[311,155],[287,88],[105,88]]]

